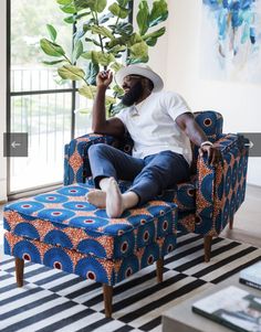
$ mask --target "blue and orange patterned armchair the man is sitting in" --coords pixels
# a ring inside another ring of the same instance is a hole
[[[248,148],[239,135],[222,133],[223,119],[219,113],[207,110],[195,113],[198,125],[208,140],[220,149],[218,165],[210,165],[207,156],[199,157],[192,147],[194,163],[189,182],[180,183],[159,196],[161,201],[174,202],[178,206],[178,228],[182,232],[203,236],[205,260],[209,261],[211,240],[229,224],[244,200],[248,167]],[[92,184],[87,149],[94,143],[107,143],[132,152],[128,137],[121,141],[111,136],[88,133],[73,139],[65,146],[64,184]],[[125,191],[129,184],[121,182]]]

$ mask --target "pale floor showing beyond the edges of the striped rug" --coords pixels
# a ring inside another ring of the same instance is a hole
[[[3,205],[0,205],[0,231],[2,207]],[[221,236],[261,247],[261,186],[247,186],[246,200],[236,213],[233,229],[226,227]]]

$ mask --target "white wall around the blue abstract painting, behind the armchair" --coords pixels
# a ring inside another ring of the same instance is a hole
[[[201,79],[199,0],[169,0],[166,87],[180,93],[192,110],[215,109],[225,118],[225,132],[261,132],[261,85]],[[158,52],[158,51],[157,51]],[[250,158],[248,182],[261,185],[261,158]]]

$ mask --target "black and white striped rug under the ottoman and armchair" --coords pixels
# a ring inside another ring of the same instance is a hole
[[[161,313],[261,258],[261,248],[213,239],[203,263],[202,238],[187,234],[165,260],[164,282],[155,266],[114,288],[113,318],[103,311],[102,287],[74,275],[25,264],[24,287],[17,288],[14,259],[0,261],[0,331],[128,332],[161,331]]]

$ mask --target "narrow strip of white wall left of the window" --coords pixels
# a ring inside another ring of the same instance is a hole
[[[7,25],[6,1],[0,1],[0,201],[7,200],[7,159],[3,158],[3,132],[6,131],[6,25]]]

